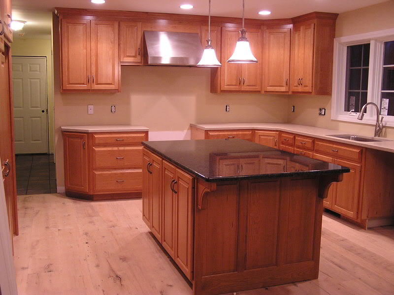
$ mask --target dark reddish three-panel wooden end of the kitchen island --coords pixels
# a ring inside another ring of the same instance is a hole
[[[218,182],[206,190],[202,202],[196,199],[194,294],[317,278],[318,189],[318,179],[296,177]]]

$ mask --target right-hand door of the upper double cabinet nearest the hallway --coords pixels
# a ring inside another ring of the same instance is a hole
[[[119,22],[92,21],[92,89],[119,88]]]

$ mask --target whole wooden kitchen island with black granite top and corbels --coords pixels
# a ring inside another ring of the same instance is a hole
[[[318,277],[323,199],[348,168],[237,139],[142,145],[143,220],[193,294]]]

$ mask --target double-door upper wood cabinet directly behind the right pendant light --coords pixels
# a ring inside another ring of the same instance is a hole
[[[227,62],[234,52],[239,36],[238,28],[222,28],[222,73],[220,89],[225,91],[261,91],[261,29],[247,29],[246,33],[252,53],[258,60],[257,63],[241,64]]]

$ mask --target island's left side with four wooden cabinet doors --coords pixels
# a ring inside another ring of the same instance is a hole
[[[145,148],[143,164],[143,220],[192,280],[195,178]]]

